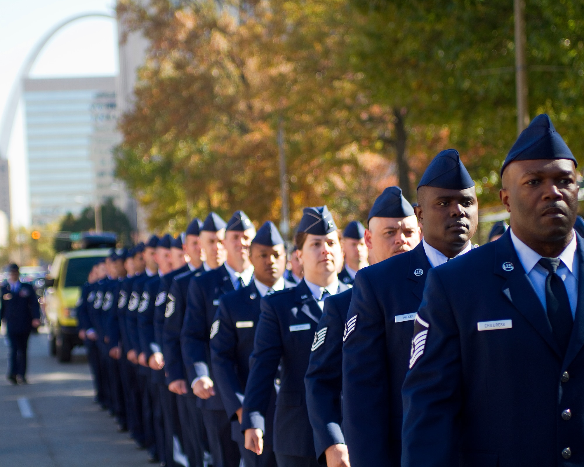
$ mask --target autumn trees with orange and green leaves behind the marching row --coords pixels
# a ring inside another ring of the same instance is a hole
[[[515,138],[509,2],[498,11],[481,1],[143,3],[117,7],[150,50],[116,157],[152,228],[238,208],[279,221],[279,149],[292,227],[306,205],[328,204],[341,225],[366,218],[389,184],[413,200],[427,162],[446,147],[463,154],[480,202],[496,201]],[[529,36],[543,62],[561,63],[530,74],[532,113],[551,111],[579,149],[582,42],[578,21],[566,46],[566,15],[544,16],[545,32]]]

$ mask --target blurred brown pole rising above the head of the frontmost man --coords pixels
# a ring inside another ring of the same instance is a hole
[[[515,88],[517,92],[517,135],[529,126],[529,104],[527,98],[527,61],[525,49],[525,0],[515,2]]]

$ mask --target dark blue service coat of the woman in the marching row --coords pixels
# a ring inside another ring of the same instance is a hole
[[[345,290],[347,286],[340,283],[339,291]],[[260,306],[241,429],[259,428],[266,432],[272,383],[281,363],[273,450],[277,454],[314,457],[304,375],[322,310],[304,280],[296,287],[263,297]]]

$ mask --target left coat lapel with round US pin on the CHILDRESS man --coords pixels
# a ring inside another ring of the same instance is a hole
[[[544,307],[540,299],[537,298],[531,281],[519,261],[509,230],[496,241],[494,272],[496,275],[506,279],[501,289],[506,299],[522,313],[524,318],[529,321],[552,350],[561,357],[561,351],[552,333]]]

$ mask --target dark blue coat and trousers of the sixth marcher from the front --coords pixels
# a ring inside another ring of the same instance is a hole
[[[185,320],[180,334],[180,346],[187,370],[187,381],[190,384],[204,373],[214,380],[213,369],[210,368],[210,329],[219,298],[232,290],[234,287],[225,266],[190,280]],[[201,367],[204,370],[201,370]],[[203,373],[199,374],[199,371]],[[220,388],[215,386],[215,389],[217,395],[207,400],[198,400],[203,412],[209,448],[213,455],[213,466],[238,467],[240,455],[237,443],[231,439],[231,420],[221,401]]]

